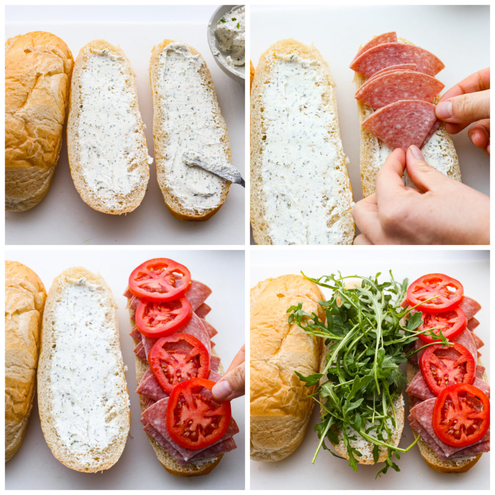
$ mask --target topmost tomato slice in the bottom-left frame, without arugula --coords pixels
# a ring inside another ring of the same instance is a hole
[[[191,273],[168,258],[148,259],[129,277],[129,290],[149,301],[172,301],[184,296],[191,286]]]

